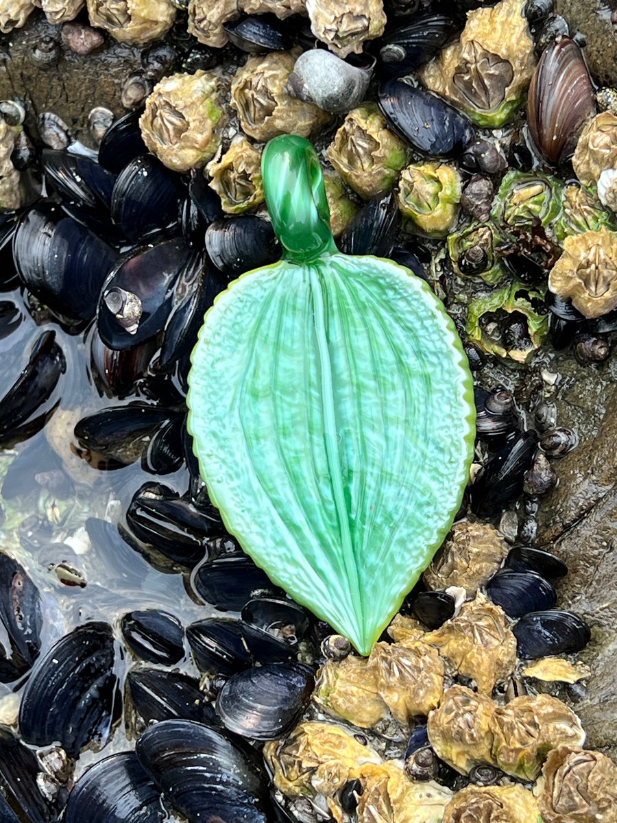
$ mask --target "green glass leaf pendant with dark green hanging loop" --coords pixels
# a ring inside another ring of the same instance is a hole
[[[368,654],[461,503],[471,374],[424,281],[337,252],[310,143],[276,137],[262,172],[283,259],[206,313],[188,427],[244,551]]]

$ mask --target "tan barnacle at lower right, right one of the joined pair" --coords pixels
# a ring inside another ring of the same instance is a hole
[[[572,709],[550,695],[523,695],[494,710],[493,760],[501,770],[535,780],[551,749],[581,746],[585,732]]]

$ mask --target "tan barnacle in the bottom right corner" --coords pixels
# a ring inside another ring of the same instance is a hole
[[[542,769],[538,806],[544,823],[615,819],[617,765],[599,751],[559,746]]]

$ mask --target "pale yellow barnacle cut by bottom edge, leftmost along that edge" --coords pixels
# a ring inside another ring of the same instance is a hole
[[[433,780],[412,781],[396,760],[367,764],[360,777],[358,823],[440,823],[452,792]]]

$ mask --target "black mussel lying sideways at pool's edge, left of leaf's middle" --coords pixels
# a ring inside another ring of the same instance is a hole
[[[75,426],[77,452],[97,468],[130,466],[146,453],[155,431],[175,415],[140,402],[95,412]]]

